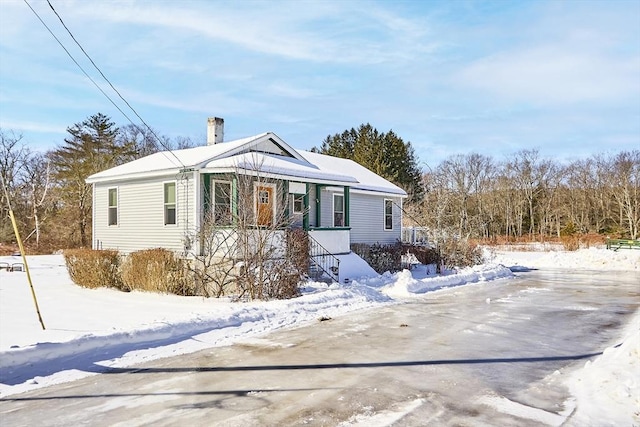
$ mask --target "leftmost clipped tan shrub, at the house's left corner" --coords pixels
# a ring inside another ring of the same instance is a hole
[[[69,249],[64,251],[64,260],[71,280],[79,286],[125,290],[120,275],[118,251]]]

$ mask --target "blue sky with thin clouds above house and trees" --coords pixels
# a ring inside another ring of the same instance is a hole
[[[170,138],[204,143],[218,116],[227,140],[273,131],[309,149],[371,123],[410,141],[425,167],[471,152],[640,148],[638,0],[50,1]],[[28,2],[135,119],[47,2]],[[129,123],[23,0],[0,0],[2,130],[43,151],[98,112]]]

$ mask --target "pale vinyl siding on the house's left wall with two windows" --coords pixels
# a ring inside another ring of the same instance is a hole
[[[118,227],[108,224],[108,189],[113,184],[94,184],[93,247],[125,253],[141,249],[166,248],[184,251],[187,234],[193,234],[194,180],[176,183],[176,226],[165,227],[164,179],[145,179],[118,183]],[[171,177],[173,178],[173,177]]]

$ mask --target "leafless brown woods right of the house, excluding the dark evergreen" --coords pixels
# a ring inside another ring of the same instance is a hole
[[[503,161],[478,153],[447,158],[423,175],[412,217],[466,238],[571,236],[638,238],[640,150],[560,163],[538,150]]]

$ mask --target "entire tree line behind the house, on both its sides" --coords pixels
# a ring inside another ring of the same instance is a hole
[[[38,153],[0,129],[0,175],[20,234],[32,250],[88,247],[94,173],[160,150],[194,146],[101,113],[67,128],[55,149]],[[410,142],[362,124],[327,136],[312,151],[349,158],[407,191],[405,222],[432,235],[492,239],[598,233],[638,238],[640,150],[599,153],[561,163],[537,150],[504,160],[478,153],[421,167]],[[4,191],[0,243],[14,242]]]

